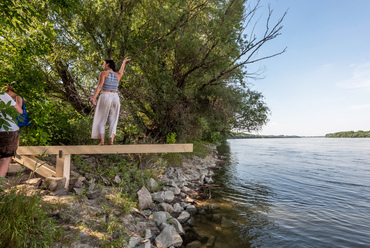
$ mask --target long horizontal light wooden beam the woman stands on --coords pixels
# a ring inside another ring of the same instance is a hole
[[[35,154],[115,154],[192,152],[193,144],[89,145],[89,146],[20,146],[19,155]]]

